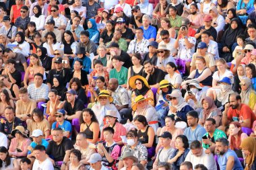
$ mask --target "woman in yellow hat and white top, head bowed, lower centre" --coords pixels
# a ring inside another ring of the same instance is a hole
[[[156,109],[148,104],[150,98],[145,98],[143,95],[138,95],[135,98],[135,103],[131,106],[134,114],[133,118],[138,115],[146,117],[148,124],[154,129],[156,133],[158,129],[158,115]]]

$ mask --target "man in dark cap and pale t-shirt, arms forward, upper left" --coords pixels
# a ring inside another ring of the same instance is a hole
[[[57,42],[61,42],[62,41],[61,31],[55,28],[55,21],[52,18],[50,18],[46,20],[45,24],[46,24],[46,26],[44,26],[45,30],[42,31],[42,42],[46,42],[45,35],[47,32],[53,32],[56,36]]]

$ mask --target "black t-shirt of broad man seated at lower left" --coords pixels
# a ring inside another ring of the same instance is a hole
[[[63,161],[66,154],[65,152],[71,150],[71,148],[73,148],[72,141],[64,136],[59,145],[51,140],[46,148],[46,154],[53,158],[54,161]]]

